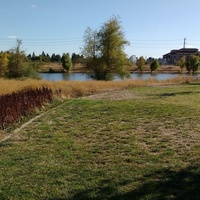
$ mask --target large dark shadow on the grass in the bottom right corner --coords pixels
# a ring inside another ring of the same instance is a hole
[[[99,183],[97,190],[84,190],[75,194],[71,200],[134,200],[134,199],[200,199],[200,167],[189,167],[181,171],[168,169],[145,175],[144,183],[136,190],[119,193],[121,186],[131,182],[113,185],[112,180]]]

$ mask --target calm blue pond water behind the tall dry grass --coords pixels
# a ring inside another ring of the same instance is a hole
[[[85,73],[40,73],[40,76],[43,80],[49,81],[62,81],[62,80],[73,80],[73,81],[87,81],[91,80]],[[146,80],[149,78],[154,78],[156,80],[166,80],[170,78],[174,78],[177,76],[189,76],[189,75],[181,75],[181,74],[169,74],[169,73],[131,73],[130,79],[141,79]],[[200,78],[200,74],[194,75],[195,77]],[[119,78],[115,78],[115,80],[120,80]]]

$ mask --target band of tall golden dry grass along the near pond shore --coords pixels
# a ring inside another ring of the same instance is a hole
[[[182,84],[191,78],[177,77],[168,80],[126,80],[126,81],[45,81],[45,80],[6,80],[0,79],[0,95],[11,94],[27,89],[48,87],[54,98],[75,98],[108,90],[121,90],[137,86]]]

